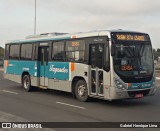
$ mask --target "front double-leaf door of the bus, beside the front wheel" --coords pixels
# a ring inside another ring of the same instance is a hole
[[[92,95],[103,96],[103,59],[104,59],[104,44],[91,44],[89,46],[90,55],[90,93]]]

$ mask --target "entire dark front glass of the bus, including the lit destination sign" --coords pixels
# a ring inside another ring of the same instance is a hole
[[[147,82],[154,63],[150,37],[146,33],[111,32],[113,66],[124,82]]]

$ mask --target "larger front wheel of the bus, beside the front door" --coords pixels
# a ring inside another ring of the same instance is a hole
[[[75,96],[79,101],[87,101],[88,99],[88,89],[87,84],[84,80],[77,81],[75,85]]]

